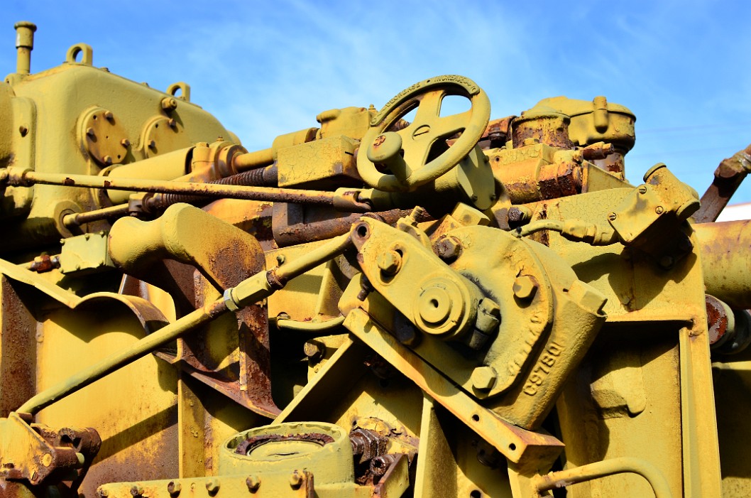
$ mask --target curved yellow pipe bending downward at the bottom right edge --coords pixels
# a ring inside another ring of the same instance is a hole
[[[610,460],[588,463],[587,465],[578,466],[573,469],[559,470],[558,472],[550,472],[547,475],[540,475],[535,477],[535,488],[537,491],[552,490],[557,487],[566,487],[569,484],[623,473],[638,474],[647,479],[656,498],[671,498],[673,496],[668,481],[656,466],[647,462],[647,460],[633,457],[611,458]]]

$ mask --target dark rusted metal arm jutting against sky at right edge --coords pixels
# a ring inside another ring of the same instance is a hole
[[[701,207],[694,214],[697,223],[713,222],[728,205],[735,191],[751,172],[751,145],[732,157],[722,159],[714,171],[712,184],[701,196]]]

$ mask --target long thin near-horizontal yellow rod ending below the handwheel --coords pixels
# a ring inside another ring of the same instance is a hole
[[[140,180],[137,178],[98,177],[95,175],[42,173],[32,170],[8,168],[0,180],[13,186],[35,184],[86,187],[89,189],[132,190],[162,194],[202,195],[207,198],[246,199],[252,201],[290,202],[296,204],[333,205],[333,192],[272,187],[246,187],[214,183],[172,182],[165,180]]]

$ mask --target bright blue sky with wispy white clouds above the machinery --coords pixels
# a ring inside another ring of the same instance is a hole
[[[158,89],[186,81],[248,149],[438,74],[475,80],[493,118],[605,95],[637,116],[629,180],[662,161],[701,195],[751,143],[751,2],[564,3],[11,0],[0,70],[14,71],[13,24],[29,20],[32,71],[88,43],[115,74]],[[751,179],[733,201],[751,202]]]

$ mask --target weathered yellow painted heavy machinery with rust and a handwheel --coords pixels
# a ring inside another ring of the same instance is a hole
[[[626,107],[448,75],[248,151],[16,29],[0,496],[751,495],[751,149],[632,186]]]

